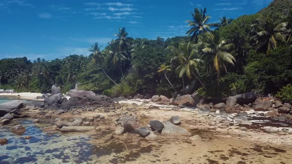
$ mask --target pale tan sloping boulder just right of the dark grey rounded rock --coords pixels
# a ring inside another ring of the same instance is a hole
[[[171,122],[163,123],[164,128],[161,131],[162,135],[192,135],[188,130],[183,127],[172,124]]]

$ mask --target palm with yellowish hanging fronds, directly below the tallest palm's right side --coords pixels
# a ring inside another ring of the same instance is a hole
[[[236,61],[232,54],[227,52],[234,47],[234,44],[227,44],[226,41],[220,38],[218,33],[206,33],[205,40],[206,42],[201,42],[201,44],[205,46],[205,48],[202,49],[203,55],[201,55],[201,57],[207,61],[208,64],[211,64],[209,61],[212,61],[212,65],[217,71],[217,85],[219,89],[220,69],[224,68],[227,73],[226,64],[230,63],[234,65]]]

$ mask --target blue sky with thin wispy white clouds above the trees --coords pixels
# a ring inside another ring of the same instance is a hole
[[[195,7],[206,7],[216,22],[256,13],[271,1],[0,0],[0,58],[87,56],[92,43],[106,46],[120,27],[133,38],[183,36]]]

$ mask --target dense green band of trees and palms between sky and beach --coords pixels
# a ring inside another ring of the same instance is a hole
[[[78,83],[80,89],[125,97],[258,91],[292,102],[290,7],[292,0],[274,0],[257,14],[218,23],[209,23],[207,10],[196,8],[186,37],[133,39],[120,28],[103,49],[94,43],[88,57],[2,59],[0,88],[49,92],[57,84],[66,92]]]

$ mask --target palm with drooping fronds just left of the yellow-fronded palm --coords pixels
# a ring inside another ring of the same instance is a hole
[[[203,61],[195,58],[197,55],[195,44],[192,44],[191,42],[181,43],[179,50],[173,46],[170,46],[169,48],[175,54],[175,56],[171,59],[171,62],[177,61],[179,63],[179,66],[176,68],[176,73],[179,75],[179,78],[183,78],[183,76],[186,75],[189,79],[192,79],[194,76],[205,88],[204,84],[197,76],[199,74],[197,65]]]

